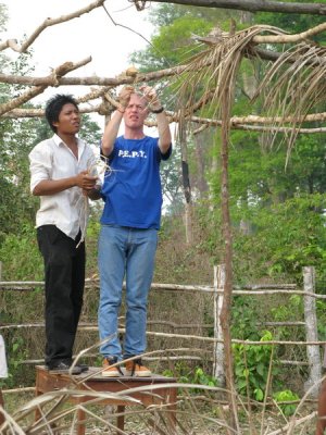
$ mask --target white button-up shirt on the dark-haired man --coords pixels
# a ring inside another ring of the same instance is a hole
[[[39,142],[29,153],[30,191],[43,179],[61,179],[89,171],[97,175],[96,157],[90,147],[78,139],[78,159],[63,140],[54,134]],[[75,186],[55,195],[40,196],[36,227],[55,225],[75,239],[79,229],[85,235],[88,219],[88,198]],[[83,237],[84,238],[84,237]]]

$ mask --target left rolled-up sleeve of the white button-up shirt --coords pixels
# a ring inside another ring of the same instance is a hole
[[[43,179],[51,178],[52,158],[45,144],[36,146],[28,156],[30,170],[30,191]]]

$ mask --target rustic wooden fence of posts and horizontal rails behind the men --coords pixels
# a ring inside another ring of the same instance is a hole
[[[1,263],[0,263],[1,271]],[[201,285],[176,285],[176,284],[152,284],[152,290],[160,291],[172,291],[172,293],[195,293],[195,294],[210,294],[214,299],[213,304],[213,325],[202,325],[206,327],[214,328],[214,337],[204,337],[197,335],[185,335],[185,334],[166,334],[159,332],[148,332],[148,335],[152,335],[155,337],[172,337],[189,340],[196,339],[199,341],[210,341],[213,344],[214,353],[213,353],[213,375],[218,378],[218,381],[224,383],[224,346],[223,346],[223,336],[222,328],[220,324],[220,312],[223,303],[223,294],[224,294],[224,282],[225,282],[225,273],[224,265],[214,266],[214,284],[213,286],[201,286]],[[325,345],[325,341],[318,340],[317,334],[317,319],[316,319],[316,299],[325,299],[326,295],[316,295],[315,294],[315,272],[314,268],[303,268],[303,289],[298,288],[296,284],[266,284],[266,285],[247,285],[247,286],[235,286],[233,294],[234,296],[255,296],[262,297],[267,295],[300,295],[303,298],[304,306],[304,319],[298,320],[293,322],[265,322],[266,326],[302,326],[305,330],[305,340],[304,341],[285,341],[285,340],[273,340],[273,341],[249,341],[241,340],[237,338],[233,338],[231,343],[238,344],[247,344],[247,345],[299,345],[306,347],[306,362],[303,361],[281,361],[284,364],[292,364],[292,365],[303,365],[305,364],[309,368],[309,378],[305,382],[305,390],[311,389],[311,394],[315,396],[317,394],[318,381],[322,374],[322,363],[321,363],[321,345]],[[30,291],[36,287],[43,287],[43,282],[2,282],[0,276],[0,291]],[[99,287],[98,279],[86,279],[86,288]],[[155,323],[155,322],[152,322]],[[160,322],[159,322],[160,323]],[[161,322],[166,323],[175,328],[183,327],[186,328],[189,325],[177,325],[172,322]],[[193,325],[192,325],[193,326]],[[33,324],[2,324],[0,325],[1,330],[8,328],[23,328],[23,327],[43,327],[43,323],[33,323]],[[79,328],[95,331],[97,330],[97,324],[80,324]],[[123,330],[121,330],[123,332]],[[159,357],[162,358],[162,357]],[[189,357],[184,357],[185,359],[189,359]],[[174,359],[183,359],[183,357],[174,357]],[[199,359],[198,357],[192,357],[192,359]],[[41,360],[28,360],[25,363],[37,364],[40,363]]]

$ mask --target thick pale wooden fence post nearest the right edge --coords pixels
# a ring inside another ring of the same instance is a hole
[[[313,266],[303,268],[303,286],[304,293],[315,293],[315,269]],[[318,341],[316,300],[313,296],[304,295],[303,301],[306,341]],[[318,381],[322,376],[319,346],[308,345],[306,356],[310,374],[304,383],[304,389],[306,391],[312,388],[311,394],[316,397],[318,395]]]

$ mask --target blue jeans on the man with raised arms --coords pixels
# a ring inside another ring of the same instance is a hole
[[[117,360],[146,350],[147,297],[152,283],[156,229],[102,225],[99,236],[100,304],[99,333],[104,343],[100,352]],[[124,346],[117,327],[123,281],[126,279],[126,321]]]

